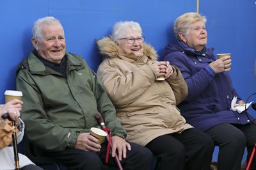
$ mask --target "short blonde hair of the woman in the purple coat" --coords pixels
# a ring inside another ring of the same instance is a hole
[[[173,31],[176,38],[179,38],[179,33],[182,32],[184,34],[188,33],[188,29],[194,22],[202,21],[204,24],[206,23],[205,16],[200,15],[195,12],[188,12],[180,15],[174,22]]]

